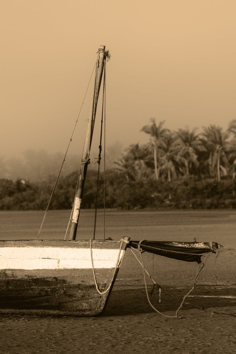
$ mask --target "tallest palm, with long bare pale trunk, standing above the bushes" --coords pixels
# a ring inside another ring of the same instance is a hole
[[[155,170],[155,176],[156,179],[159,178],[159,171],[157,167],[157,155],[158,155],[158,160],[159,160],[159,153],[158,150],[162,145],[163,138],[166,136],[167,133],[169,133],[169,129],[164,128],[163,125],[165,121],[163,120],[162,122],[159,122],[159,125],[156,125],[155,118],[151,118],[151,125],[144,125],[141,129],[144,133],[147,133],[150,135],[150,140],[151,140],[151,145],[153,148],[153,159],[154,159],[154,170]]]

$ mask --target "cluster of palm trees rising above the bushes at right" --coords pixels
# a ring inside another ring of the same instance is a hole
[[[145,179],[155,175],[156,180],[171,182],[183,176],[199,179],[223,177],[235,178],[236,174],[236,120],[226,131],[219,126],[170,131],[151,119],[142,131],[150,137],[148,144],[133,144],[126,150],[120,171],[127,179]]]

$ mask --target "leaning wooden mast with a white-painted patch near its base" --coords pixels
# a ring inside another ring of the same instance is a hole
[[[96,109],[98,104],[98,96],[99,96],[99,90],[101,86],[102,73],[104,69],[104,60],[106,60],[105,46],[101,45],[99,47],[99,58],[96,64],[93,97],[92,97],[92,102],[90,107],[88,126],[87,126],[83,154],[82,154],[81,165],[79,170],[78,185],[77,185],[75,200],[74,200],[73,209],[71,213],[71,218],[66,233],[67,239],[69,239],[69,241],[75,240],[76,238],[76,231],[77,231],[80,206],[81,206],[81,201],[83,196],[84,182],[85,182],[87,167],[89,164],[89,154],[90,154],[90,147],[91,147],[92,137],[93,137],[93,128],[94,128],[94,121],[95,121]]]

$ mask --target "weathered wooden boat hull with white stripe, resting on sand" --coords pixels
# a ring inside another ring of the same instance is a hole
[[[87,240],[1,241],[0,313],[101,314],[126,246],[124,240],[91,241],[91,247]]]

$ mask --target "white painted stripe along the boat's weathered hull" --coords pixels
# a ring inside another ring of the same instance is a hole
[[[120,252],[120,259],[124,250]],[[119,250],[93,249],[94,268],[116,267]],[[0,269],[92,268],[90,249],[58,247],[2,247]]]

